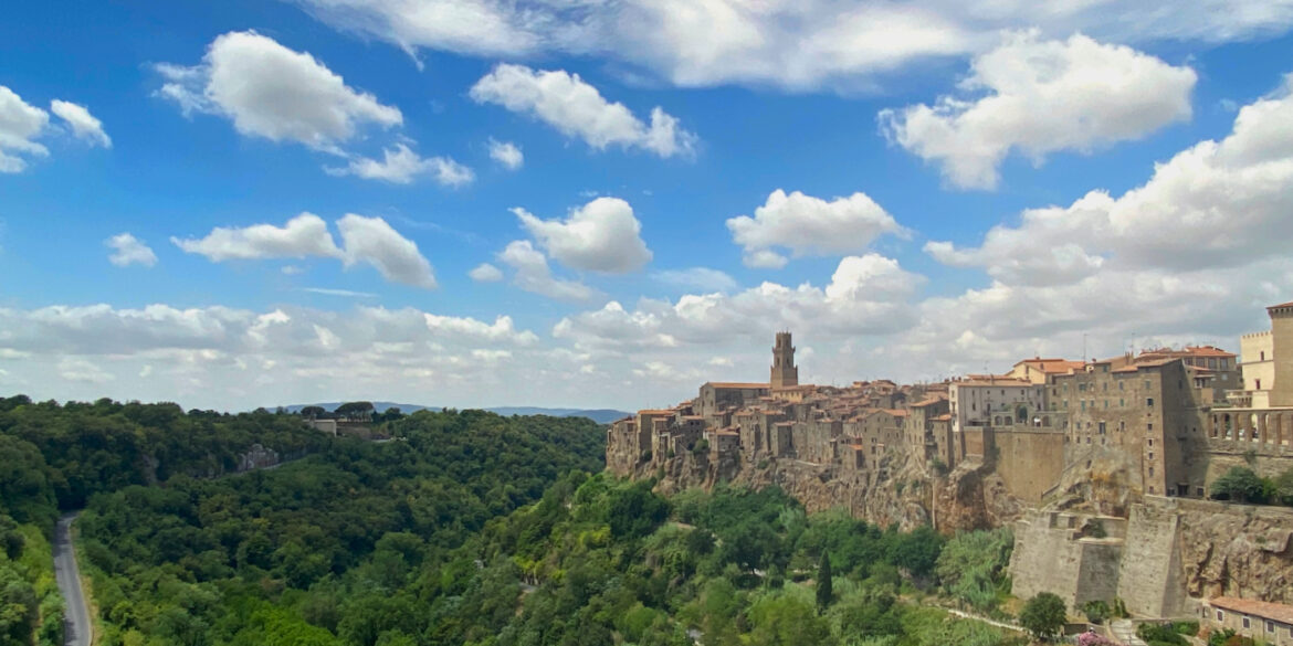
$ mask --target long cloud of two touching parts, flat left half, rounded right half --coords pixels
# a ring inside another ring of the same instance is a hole
[[[340,247],[332,239],[327,222],[313,213],[301,213],[283,226],[216,227],[206,238],[171,238],[171,242],[213,262],[336,258],[347,267],[361,262],[371,265],[387,280],[436,288],[431,262],[418,251],[418,243],[400,235],[385,220],[348,213],[336,221],[336,227],[341,235]]]

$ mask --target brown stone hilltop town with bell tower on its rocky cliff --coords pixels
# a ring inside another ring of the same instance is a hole
[[[905,528],[1012,523],[1016,594],[1223,621],[1226,603],[1293,603],[1293,510],[1210,500],[1231,468],[1293,468],[1293,302],[1267,313],[1239,357],[1033,357],[999,375],[844,388],[800,384],[778,332],[768,381],[706,382],[615,421],[606,465],[666,491],[778,484]]]

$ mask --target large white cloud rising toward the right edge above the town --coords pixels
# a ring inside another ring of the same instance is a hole
[[[1091,191],[1068,207],[1025,211],[975,248],[931,242],[953,266],[1009,284],[1071,284],[1100,271],[1193,270],[1288,253],[1293,239],[1293,79],[1244,106],[1232,132],[1159,164],[1118,198]]]

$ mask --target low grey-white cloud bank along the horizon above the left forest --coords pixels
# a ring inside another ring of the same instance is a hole
[[[246,410],[380,389],[428,404],[500,406],[518,401],[511,397],[542,401],[533,385],[555,388],[553,395],[586,385],[568,389],[557,379],[577,373],[586,358],[540,348],[534,332],[507,315],[366,306],[0,307],[0,331],[5,368],[23,375],[22,388],[39,398],[107,395]],[[114,379],[125,375],[131,379]]]

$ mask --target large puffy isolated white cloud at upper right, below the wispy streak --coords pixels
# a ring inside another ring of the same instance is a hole
[[[971,63],[961,87],[980,98],[945,96],[884,110],[879,121],[890,141],[940,164],[952,185],[993,189],[1011,151],[1041,164],[1051,152],[1089,152],[1188,120],[1196,80],[1188,67],[1125,45],[1019,32]]]

